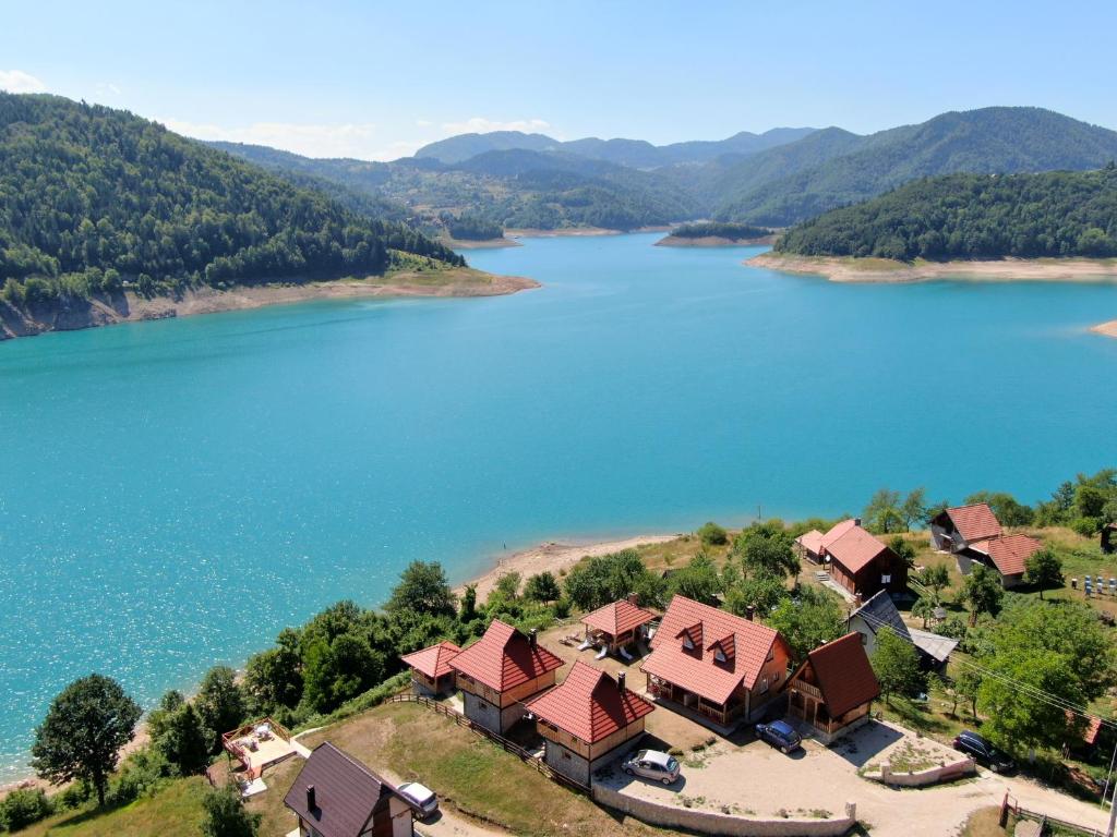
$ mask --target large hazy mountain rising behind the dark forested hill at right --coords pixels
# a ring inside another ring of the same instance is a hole
[[[712,177],[717,185],[703,199],[719,220],[786,225],[917,177],[1087,170],[1115,158],[1117,132],[1035,107],[987,107],[863,137],[818,132],[739,161]]]

